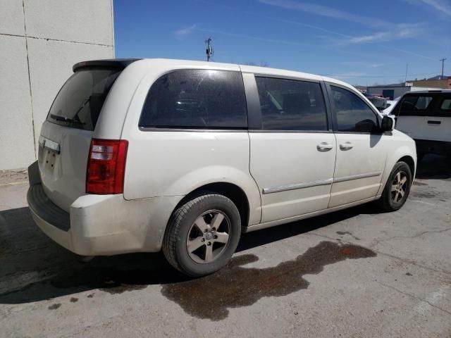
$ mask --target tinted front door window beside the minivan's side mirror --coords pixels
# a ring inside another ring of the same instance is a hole
[[[340,132],[371,132],[377,127],[376,114],[356,94],[330,86],[335,103],[337,129]]]

